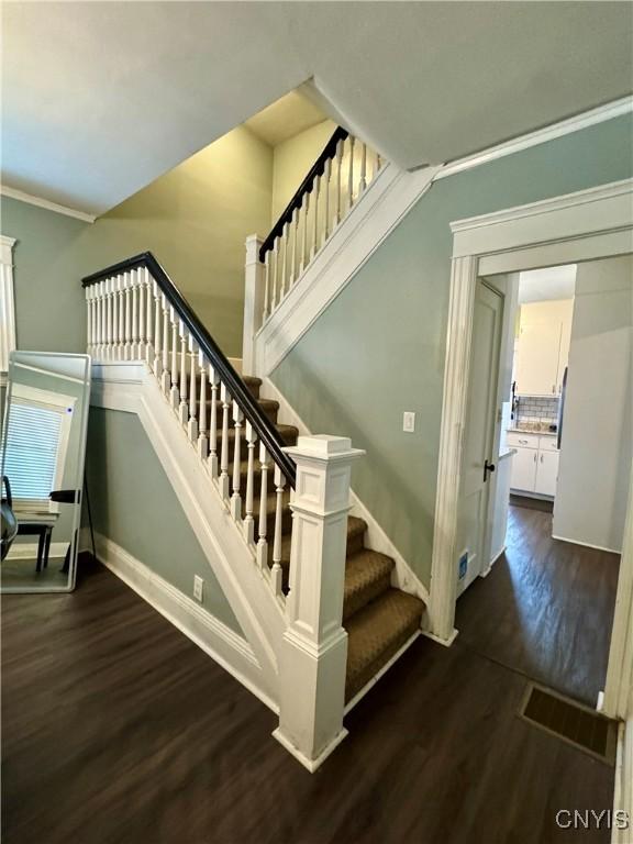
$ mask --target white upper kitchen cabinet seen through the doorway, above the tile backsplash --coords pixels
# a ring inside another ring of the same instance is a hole
[[[557,396],[569,357],[574,300],[521,306],[514,379],[520,396]]]

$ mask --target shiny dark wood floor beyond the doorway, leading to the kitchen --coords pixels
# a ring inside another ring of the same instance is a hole
[[[620,556],[552,538],[552,513],[511,506],[508,548],[457,603],[459,642],[595,707],[604,688]]]

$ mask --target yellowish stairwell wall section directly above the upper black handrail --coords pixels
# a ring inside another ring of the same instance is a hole
[[[336,123],[324,120],[274,147],[270,226],[280,218],[335,129]]]

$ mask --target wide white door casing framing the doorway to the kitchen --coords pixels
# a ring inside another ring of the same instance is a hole
[[[530,266],[544,267],[633,253],[633,179],[457,221],[451,227],[454,252],[429,607],[431,632],[446,642],[455,635],[458,500],[477,278],[489,275],[490,267],[498,273],[523,270],[526,255]],[[629,525],[632,507],[630,497]],[[604,711],[611,717],[622,717],[614,701],[629,697],[630,675],[622,669],[621,656],[633,619],[632,571],[633,553],[624,553],[604,689]]]

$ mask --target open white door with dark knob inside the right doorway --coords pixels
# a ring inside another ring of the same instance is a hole
[[[503,297],[478,279],[459,495],[458,553],[460,556],[463,552],[467,553],[468,565],[462,577],[457,570],[458,592],[490,562],[487,558],[490,473],[485,471],[485,466],[497,463],[492,446],[502,315]]]

